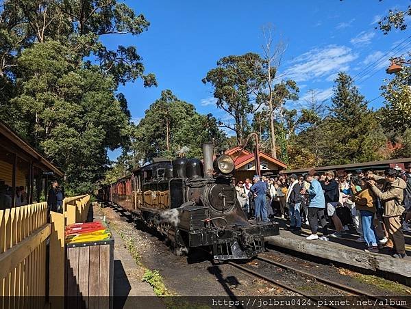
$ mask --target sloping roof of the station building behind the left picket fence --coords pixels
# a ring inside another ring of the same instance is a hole
[[[6,144],[2,143],[1,147],[16,153],[22,159],[30,159],[35,165],[40,167],[44,172],[50,171],[62,177],[64,173],[55,167],[50,161],[42,157],[32,146],[27,144],[10,126],[0,120],[0,137],[5,139]]]

